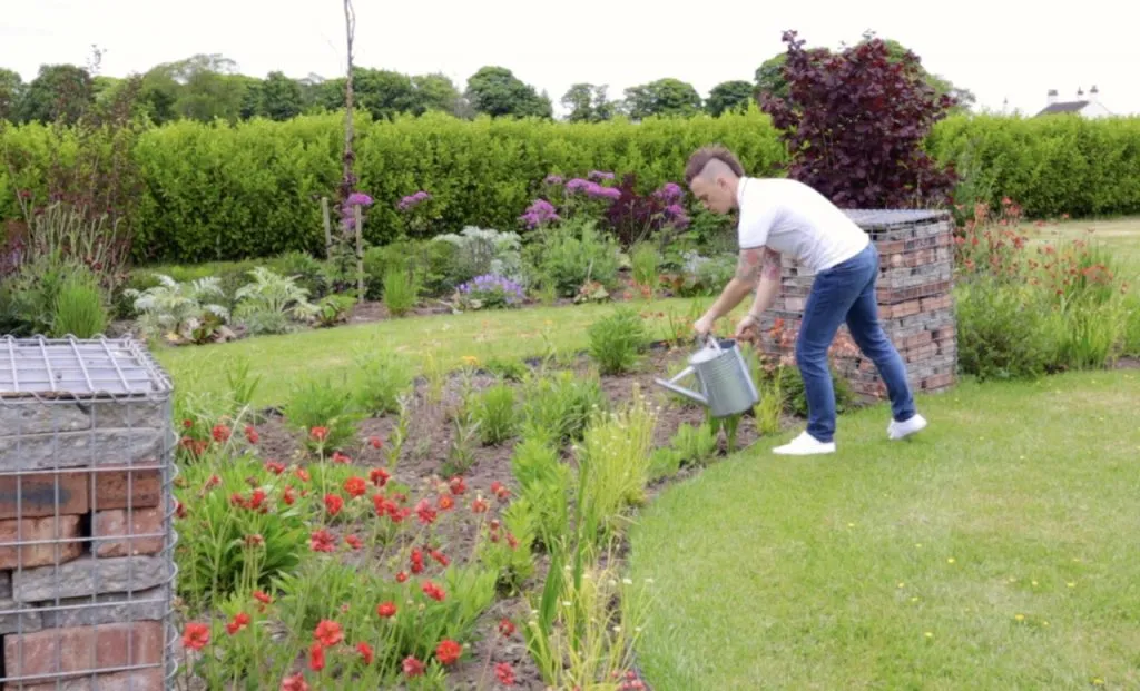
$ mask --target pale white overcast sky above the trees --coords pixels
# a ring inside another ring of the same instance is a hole
[[[1140,41],[1126,16],[1137,10],[1117,0],[1058,5],[1057,13],[1015,5],[1023,3],[356,0],[357,63],[442,72],[461,89],[480,66],[498,64],[545,89],[560,113],[557,101],[575,82],[609,84],[619,98],[626,87],[674,76],[707,96],[718,82],[751,80],[782,51],[785,29],[832,48],[870,29],[972,90],[983,107],[1001,109],[1008,98],[1011,109],[1033,114],[1049,89],[1065,99],[1097,84],[1109,111],[1140,114]],[[95,43],[106,51],[101,73],[113,76],[215,52],[246,74],[328,78],[344,68],[341,7],[341,0],[0,0],[0,66],[28,81],[44,63],[84,64]]]

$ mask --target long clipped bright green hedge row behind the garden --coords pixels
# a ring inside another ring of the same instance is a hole
[[[679,181],[689,153],[719,141],[757,174],[785,158],[777,132],[755,108],[719,119],[601,124],[446,115],[358,121],[359,188],[376,204],[366,239],[404,228],[399,200],[433,195],[429,233],[464,225],[518,228],[548,173],[635,172],[640,187]],[[50,137],[39,125],[0,132],[0,151],[46,164]],[[268,257],[324,245],[320,195],[340,180],[343,121],[304,116],[236,127],[177,122],[144,132],[135,158],[144,180],[135,226],[138,259],[202,261]],[[1017,198],[1033,217],[1140,213],[1140,117],[959,116],[939,123],[930,151],[967,176],[962,194]],[[65,147],[66,151],[66,147]],[[16,214],[16,189],[40,189],[35,165],[19,180],[0,170],[0,220]]]

